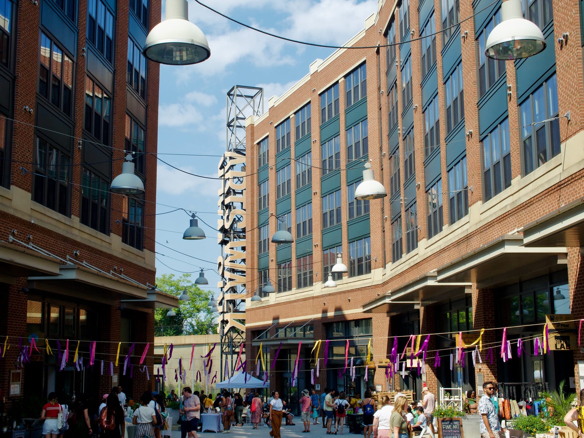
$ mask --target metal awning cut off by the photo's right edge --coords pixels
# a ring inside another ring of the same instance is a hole
[[[584,198],[530,222],[522,231],[524,246],[584,246]]]

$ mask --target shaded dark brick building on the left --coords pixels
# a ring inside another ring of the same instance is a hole
[[[97,400],[116,380],[130,397],[152,387],[137,369],[123,375],[123,357],[150,342],[152,367],[154,308],[178,303],[152,287],[159,66],[141,47],[160,20],[148,0],[0,0],[0,333],[11,346],[0,389],[11,403],[51,391]],[[143,195],[109,192],[126,153]],[[21,337],[41,352],[18,373]]]

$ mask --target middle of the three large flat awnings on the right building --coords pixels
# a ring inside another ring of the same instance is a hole
[[[437,269],[440,283],[477,283],[477,288],[566,263],[566,248],[528,248],[520,235],[504,235]]]

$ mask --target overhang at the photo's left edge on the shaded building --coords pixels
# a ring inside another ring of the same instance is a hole
[[[0,241],[0,281],[15,284],[16,277],[58,276],[63,262],[32,249]]]

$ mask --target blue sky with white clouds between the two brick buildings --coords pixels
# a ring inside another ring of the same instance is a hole
[[[205,1],[225,15],[260,29],[293,39],[335,45],[342,45],[363,29],[364,20],[377,11],[376,0]],[[189,19],[206,35],[211,57],[201,64],[161,66],[158,152],[216,155],[160,156],[185,171],[216,177],[218,161],[225,151],[227,91],[236,84],[260,86],[264,88],[267,110],[268,99],[282,95],[308,73],[312,61],[326,58],[333,50],[265,36],[236,25],[194,1],[189,1]],[[219,188],[217,180],[186,175],[158,163],[157,202],[197,211],[211,227],[217,226]],[[182,233],[189,226],[189,217],[184,211],[160,214],[173,210],[160,204],[157,206],[156,241],[208,262],[157,244],[156,251],[164,254],[157,254],[157,275],[175,273],[179,276],[182,272],[198,271],[199,267],[216,269],[221,255],[217,231],[199,221],[207,238],[183,241]],[[197,273],[192,275],[198,276]],[[205,275],[209,281],[206,288],[218,292],[218,274],[208,271]]]

